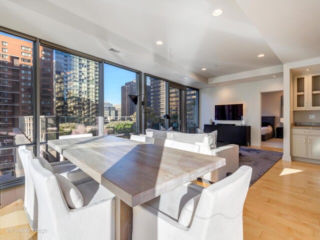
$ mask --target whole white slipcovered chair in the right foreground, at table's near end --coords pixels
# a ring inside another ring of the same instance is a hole
[[[243,239],[242,210],[251,171],[241,166],[202,191],[182,185],[133,207],[132,240]]]

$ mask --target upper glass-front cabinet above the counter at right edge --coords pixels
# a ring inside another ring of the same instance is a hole
[[[320,72],[293,76],[293,110],[320,110]]]

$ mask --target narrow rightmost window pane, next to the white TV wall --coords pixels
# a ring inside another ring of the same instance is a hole
[[[199,125],[198,120],[198,93],[192,88],[186,88],[186,132],[196,133]]]

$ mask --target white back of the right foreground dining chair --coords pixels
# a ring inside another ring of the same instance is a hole
[[[252,168],[241,166],[203,189],[190,226],[197,239],[243,239],[242,210]]]

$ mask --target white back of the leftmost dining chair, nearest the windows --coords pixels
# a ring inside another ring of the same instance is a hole
[[[24,210],[31,229],[37,228],[37,201],[32,178],[29,171],[29,161],[35,156],[25,145],[18,147],[19,157],[24,171]]]

